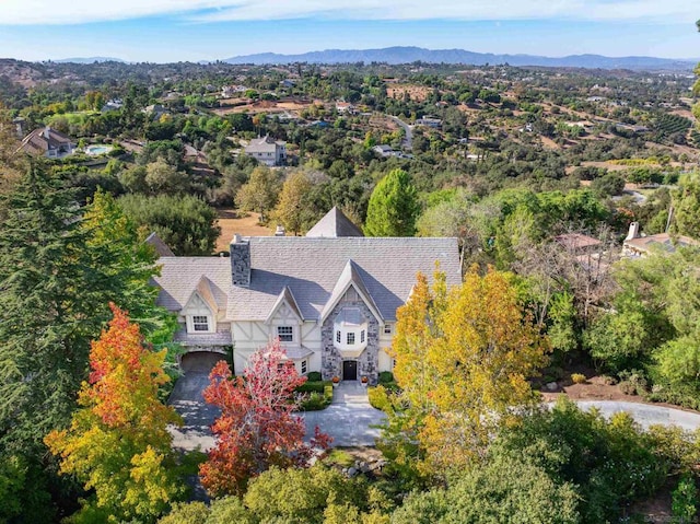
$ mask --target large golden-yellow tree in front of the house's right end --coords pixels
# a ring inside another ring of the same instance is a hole
[[[407,304],[397,312],[390,354],[408,406],[405,420],[433,473],[482,455],[494,428],[514,406],[536,401],[527,377],[546,361],[548,343],[521,308],[509,276],[471,269],[447,290],[419,275]]]

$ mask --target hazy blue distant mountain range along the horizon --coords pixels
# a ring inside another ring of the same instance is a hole
[[[326,49],[324,51],[304,53],[302,55],[278,55],[261,53],[226,58],[229,63],[352,63],[386,62],[392,65],[411,63],[415,61],[429,63],[464,63],[483,66],[486,63],[511,66],[542,66],[587,69],[631,69],[691,71],[697,61],[690,59],[672,59],[654,57],[604,57],[600,55],[572,55],[560,58],[533,55],[493,55],[491,53],[472,53],[464,49],[424,49],[421,47],[387,47],[384,49]]]

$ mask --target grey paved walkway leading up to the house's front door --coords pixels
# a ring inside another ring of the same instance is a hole
[[[341,382],[334,389],[332,404],[322,411],[302,414],[306,422],[306,436],[314,434],[316,426],[332,436],[332,446],[371,446],[380,436],[377,428],[384,414],[370,405],[366,387],[359,381]]]

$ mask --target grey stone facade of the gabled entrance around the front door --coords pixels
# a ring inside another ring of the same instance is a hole
[[[359,357],[343,357],[334,345],[334,322],[343,307],[357,307],[368,321],[368,347]],[[380,370],[380,323],[364,301],[351,288],[332,308],[320,328],[320,372],[324,381],[342,376],[343,360],[358,362],[358,380],[366,376],[370,385],[376,385]]]

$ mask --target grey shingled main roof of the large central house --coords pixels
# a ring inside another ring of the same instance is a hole
[[[294,298],[304,319],[318,319],[336,288],[361,282],[358,287],[381,317],[394,321],[418,271],[432,276],[439,261],[448,284],[462,280],[456,238],[258,236],[248,242],[248,288],[231,283],[230,258],[163,257],[161,276],[154,279],[162,288],[159,304],[182,310],[207,277],[217,303],[228,304],[226,319],[264,322],[281,293]]]

